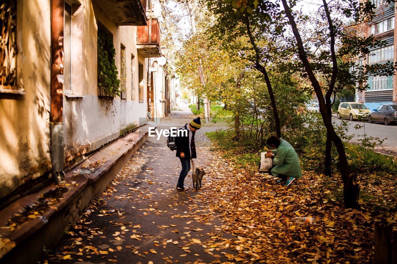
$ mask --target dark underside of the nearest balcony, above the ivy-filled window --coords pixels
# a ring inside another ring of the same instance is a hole
[[[118,26],[146,26],[147,0],[96,0]]]

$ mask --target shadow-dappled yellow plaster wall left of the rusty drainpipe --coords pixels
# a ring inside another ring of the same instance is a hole
[[[0,95],[0,198],[51,169],[49,0],[17,1],[17,77],[24,96]]]

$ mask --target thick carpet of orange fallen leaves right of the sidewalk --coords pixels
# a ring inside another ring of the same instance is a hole
[[[222,210],[224,230],[237,236],[230,247],[239,252],[234,260],[260,262],[369,262],[373,254],[376,221],[395,223],[393,213],[344,209],[333,197],[340,180],[305,172],[287,188],[275,180],[261,182],[258,175],[233,173],[214,188],[214,209]],[[338,190],[341,192],[341,190]],[[387,190],[386,192],[395,192]],[[276,193],[275,196],[274,193]],[[362,201],[361,201],[362,202]],[[314,217],[316,224],[297,224],[295,217]]]

